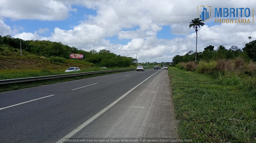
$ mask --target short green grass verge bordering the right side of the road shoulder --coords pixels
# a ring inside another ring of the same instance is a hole
[[[169,69],[178,135],[193,142],[256,142],[256,96],[213,75]]]

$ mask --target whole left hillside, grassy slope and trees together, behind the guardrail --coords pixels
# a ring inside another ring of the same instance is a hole
[[[22,48],[22,56],[20,55]],[[70,53],[84,54],[84,59],[70,59]],[[0,69],[66,69],[70,66],[130,67],[137,59],[111,53],[102,49],[84,51],[46,40],[22,40],[12,36],[0,36]]]

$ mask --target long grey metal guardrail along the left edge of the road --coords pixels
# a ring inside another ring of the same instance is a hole
[[[115,72],[115,71],[134,70],[134,69],[136,69],[136,68],[104,70],[104,71],[72,73],[72,74],[61,74],[61,75],[50,75],[50,76],[39,76],[39,77],[28,77],[28,78],[17,78],[17,79],[6,79],[6,80],[0,80],[0,85],[1,84],[10,84],[10,83],[19,83],[19,82],[28,82],[28,81],[38,81],[38,80],[44,80],[44,79],[54,79],[54,78],[61,78],[61,77],[71,77],[71,76],[95,74],[95,73],[107,73],[107,72]]]

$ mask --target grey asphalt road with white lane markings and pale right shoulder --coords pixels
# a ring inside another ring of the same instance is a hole
[[[130,71],[0,93],[0,142],[176,138],[167,72]]]

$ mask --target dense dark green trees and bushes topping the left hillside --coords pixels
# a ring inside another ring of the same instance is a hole
[[[10,35],[0,36],[0,55],[1,59],[6,57],[20,56],[20,43],[23,56],[43,56],[52,63],[62,64],[66,60],[76,60],[91,63],[91,66],[104,67],[129,67],[136,65],[137,59],[125,57],[111,53],[109,50],[102,49],[84,51],[76,47],[64,45],[61,42],[51,42],[46,40],[22,40]],[[84,59],[70,59],[70,53],[84,54]],[[79,62],[80,62],[79,61]]]

